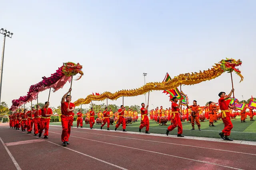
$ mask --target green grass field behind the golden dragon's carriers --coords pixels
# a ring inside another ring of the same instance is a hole
[[[255,116],[254,116],[255,119]],[[256,141],[256,121],[250,121],[250,118],[247,117],[246,123],[241,123],[240,117],[236,117],[236,119],[231,119],[233,123],[233,129],[231,131],[230,138],[235,140],[244,140],[244,141]],[[183,126],[183,135],[186,136],[195,136],[195,137],[211,137],[211,138],[220,138],[218,133],[224,128],[224,124],[222,124],[222,121],[219,120],[217,123],[214,123],[216,127],[209,127],[209,121],[205,120],[201,123],[201,129],[202,131],[198,131],[197,125],[195,125],[194,131],[191,131],[192,128],[191,123],[187,123],[187,121],[182,122]],[[60,122],[56,123],[50,123],[50,125],[61,125]],[[73,127],[76,127],[76,121],[73,123]],[[170,125],[170,122],[167,123],[167,125]],[[136,131],[138,132],[140,126],[140,121],[128,124],[126,126],[127,131]],[[90,127],[89,124],[85,124],[83,122],[83,127]],[[151,133],[166,133],[166,129],[168,126],[160,126],[159,124],[150,121],[150,132]],[[100,125],[96,125],[96,122],[94,124],[94,128],[100,128]],[[103,129],[106,129],[107,125],[103,127]],[[110,125],[110,129],[115,129],[115,124]],[[118,130],[122,130],[122,127],[120,126]],[[169,134],[176,135],[177,134],[177,128],[175,128],[172,132]],[[142,129],[142,132],[145,132],[145,127]]]

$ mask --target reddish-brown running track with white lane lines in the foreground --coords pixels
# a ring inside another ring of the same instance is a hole
[[[256,148],[252,145],[72,128],[70,145],[62,147],[61,132],[61,127],[50,126],[49,139],[41,137],[38,140],[38,137],[10,129],[8,125],[0,126],[0,139],[4,143],[0,143],[1,168],[255,169]]]

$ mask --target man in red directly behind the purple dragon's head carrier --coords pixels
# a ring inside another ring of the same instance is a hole
[[[50,124],[50,116],[52,115],[52,109],[48,108],[50,105],[49,102],[45,102],[44,106],[42,107],[42,118],[41,118],[41,128],[39,131],[38,137],[42,136],[42,132],[44,130],[44,139],[48,139],[49,135],[49,124]]]

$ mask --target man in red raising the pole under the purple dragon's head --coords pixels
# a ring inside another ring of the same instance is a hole
[[[68,139],[70,136],[71,125],[74,121],[74,118],[72,118],[73,117],[72,113],[75,109],[75,105],[71,103],[72,96],[69,95],[71,91],[72,91],[72,88],[70,88],[68,92],[66,92],[66,94],[64,94],[64,96],[61,99],[61,125],[62,125],[61,141],[63,142],[64,147],[70,144],[68,143]]]

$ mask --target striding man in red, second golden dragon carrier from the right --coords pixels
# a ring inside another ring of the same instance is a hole
[[[175,127],[178,126],[178,137],[184,137],[182,136],[182,123],[180,120],[180,115],[179,115],[179,108],[181,105],[182,100],[180,100],[179,104],[177,104],[178,99],[177,97],[172,98],[172,121],[173,125],[170,125],[167,130],[166,130],[166,135],[168,136],[169,132],[175,129]]]

